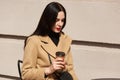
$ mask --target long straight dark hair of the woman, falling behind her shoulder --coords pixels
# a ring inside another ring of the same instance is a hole
[[[62,29],[63,29],[66,25],[66,10],[60,3],[51,2],[44,9],[36,30],[30,36],[32,36],[32,35],[41,35],[41,36],[48,35],[49,32],[51,31],[53,25],[55,24],[57,15],[60,11],[63,11],[65,14],[64,24],[62,26]],[[26,40],[27,40],[27,38],[26,38]],[[25,40],[25,45],[26,45],[26,40]],[[25,45],[24,45],[24,47],[25,47]]]

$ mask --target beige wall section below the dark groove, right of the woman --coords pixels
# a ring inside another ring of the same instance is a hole
[[[120,49],[72,45],[79,80],[120,78]]]

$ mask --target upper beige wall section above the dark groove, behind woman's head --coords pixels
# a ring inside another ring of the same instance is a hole
[[[45,5],[51,1],[53,0],[1,0],[0,33],[31,34],[37,26]],[[58,1],[67,10],[65,32],[73,39],[120,43],[119,0]]]

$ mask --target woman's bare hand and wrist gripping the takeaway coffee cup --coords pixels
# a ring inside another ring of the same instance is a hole
[[[55,71],[63,70],[65,69],[65,61],[64,58],[57,57],[50,67],[45,69],[45,74],[49,75],[54,73]]]

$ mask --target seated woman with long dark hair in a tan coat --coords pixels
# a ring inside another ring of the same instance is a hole
[[[66,10],[58,2],[49,3],[35,32],[25,40],[22,79],[58,80],[55,72],[68,71],[77,80],[73,69],[71,38],[63,33]],[[64,52],[64,58],[56,58],[56,52]]]

